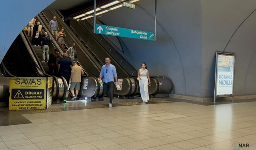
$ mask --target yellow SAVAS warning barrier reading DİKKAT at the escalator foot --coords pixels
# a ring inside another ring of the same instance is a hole
[[[10,77],[9,110],[46,109],[46,98],[52,96],[47,83],[44,77]]]

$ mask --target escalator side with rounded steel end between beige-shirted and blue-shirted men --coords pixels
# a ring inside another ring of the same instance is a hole
[[[55,40],[50,32],[49,29],[49,22],[53,18],[53,14],[49,12],[42,12],[38,14],[38,20],[42,22],[42,24],[45,26],[45,30],[51,35],[52,41],[57,43],[57,40]],[[58,21],[58,26],[59,28],[62,28],[64,25],[64,22]],[[95,100],[99,100],[98,98],[101,98],[103,96],[103,87],[102,81],[98,81],[97,76],[100,74],[100,69],[101,69],[101,64],[97,58],[94,58],[90,52],[86,51],[87,47],[76,38],[74,33],[70,30],[66,30],[64,28],[66,37],[65,37],[65,43],[66,43],[66,48],[72,46],[72,43],[76,43],[76,52],[77,52],[77,60],[78,60],[78,65],[80,65],[85,74],[86,77],[82,78],[82,86],[80,89],[80,98],[87,98],[90,97]],[[63,52],[66,51],[66,49],[63,50]],[[84,83],[90,83],[90,88],[86,88],[84,86]],[[102,99],[101,99],[102,100]]]

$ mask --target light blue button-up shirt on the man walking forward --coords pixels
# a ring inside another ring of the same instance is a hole
[[[116,67],[112,64],[109,64],[107,67],[106,65],[103,65],[100,71],[100,76],[103,78],[103,82],[114,82],[114,78],[117,77],[116,74]]]

